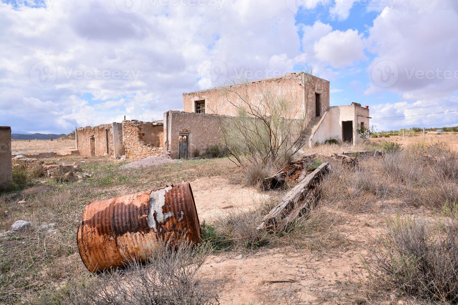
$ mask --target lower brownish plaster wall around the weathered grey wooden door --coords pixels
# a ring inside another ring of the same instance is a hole
[[[164,113],[164,142],[170,152],[170,157],[178,158],[179,135],[189,134],[188,153],[193,157],[194,149],[201,153],[211,145],[220,144],[219,127],[217,116],[212,114],[197,114],[180,111],[168,111]]]

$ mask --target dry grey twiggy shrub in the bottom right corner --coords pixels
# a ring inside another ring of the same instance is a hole
[[[456,222],[435,227],[424,219],[397,217],[379,244],[364,260],[377,285],[445,303],[458,301]]]

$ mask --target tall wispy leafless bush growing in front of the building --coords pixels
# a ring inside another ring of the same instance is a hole
[[[291,161],[300,149],[298,141],[306,126],[304,109],[301,101],[269,91],[250,96],[243,86],[229,87],[226,95],[238,115],[218,118],[225,150],[234,163],[250,172],[246,180],[256,185]]]

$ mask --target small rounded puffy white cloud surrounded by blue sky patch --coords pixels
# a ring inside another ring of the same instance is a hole
[[[364,44],[356,30],[333,31],[314,44],[315,56],[335,68],[342,68],[365,59]]]

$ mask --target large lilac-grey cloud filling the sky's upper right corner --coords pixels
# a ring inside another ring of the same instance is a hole
[[[458,2],[454,0],[403,0],[384,8],[369,29],[366,45],[376,54],[369,74],[381,61],[394,62],[397,81],[387,89],[404,99],[446,97],[456,92],[457,9]],[[391,68],[387,73],[392,74]],[[383,69],[380,71],[384,73]],[[366,94],[380,91],[372,83]]]

